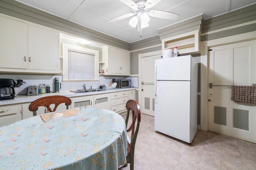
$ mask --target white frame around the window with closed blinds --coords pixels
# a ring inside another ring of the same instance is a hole
[[[95,77],[94,79],[76,79],[76,80],[69,80],[68,79],[68,50],[75,50],[81,51],[83,53],[91,53],[95,55]],[[77,45],[70,45],[66,43],[62,43],[62,57],[63,57],[63,81],[95,81],[99,80],[99,51],[94,49],[88,49],[84,47],[80,47]]]

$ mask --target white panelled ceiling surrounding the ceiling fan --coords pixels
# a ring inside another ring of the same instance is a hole
[[[128,43],[158,34],[157,29],[203,14],[204,19],[225,14],[256,3],[256,0],[161,0],[150,10],[179,14],[177,20],[150,17],[149,27],[142,30],[142,37],[128,22],[132,18],[106,23],[107,20],[133,13],[120,0],[16,0],[50,14],[68,19],[85,27],[116,37]],[[133,0],[139,2],[143,0]]]

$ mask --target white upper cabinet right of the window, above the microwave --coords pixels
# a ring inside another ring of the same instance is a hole
[[[102,47],[102,69],[105,75],[130,75],[130,52],[113,47]]]

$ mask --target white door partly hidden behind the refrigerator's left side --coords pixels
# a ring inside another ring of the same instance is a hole
[[[153,55],[142,58],[141,65],[141,97],[140,111],[144,114],[154,116],[154,76],[155,76],[155,60],[161,59],[161,55]]]

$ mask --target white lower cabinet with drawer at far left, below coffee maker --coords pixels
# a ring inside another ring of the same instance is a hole
[[[0,107],[0,127],[22,120],[22,105]]]

